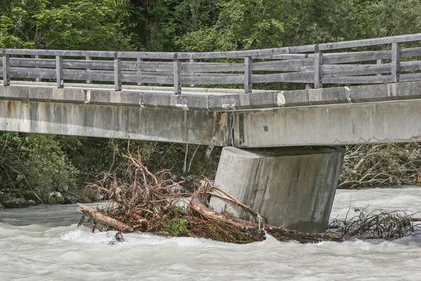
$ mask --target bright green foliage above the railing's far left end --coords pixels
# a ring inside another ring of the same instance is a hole
[[[6,3],[7,2],[7,3]],[[0,47],[121,50],[131,48],[128,1],[4,1]]]

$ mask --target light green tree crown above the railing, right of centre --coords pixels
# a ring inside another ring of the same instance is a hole
[[[283,46],[288,27],[297,20],[293,1],[218,1],[218,21],[180,37],[184,51],[232,51]]]

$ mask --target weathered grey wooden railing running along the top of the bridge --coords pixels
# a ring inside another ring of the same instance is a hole
[[[153,53],[117,51],[1,50],[0,77],[67,81],[182,85],[288,82],[312,84],[376,84],[421,80],[421,47],[401,44],[421,41],[421,34],[326,44],[210,53]],[[355,51],[379,46],[382,51]],[[352,48],[351,51],[347,49]],[[405,61],[401,61],[405,58]]]

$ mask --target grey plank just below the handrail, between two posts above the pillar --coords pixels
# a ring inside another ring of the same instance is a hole
[[[314,67],[313,58],[304,58],[298,60],[269,60],[253,63],[253,71],[284,71],[298,72],[307,71],[308,67]]]

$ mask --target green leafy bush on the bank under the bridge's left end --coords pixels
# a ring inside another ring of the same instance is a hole
[[[51,135],[0,134],[2,187],[38,188],[42,192],[60,185],[74,187],[78,171]]]

